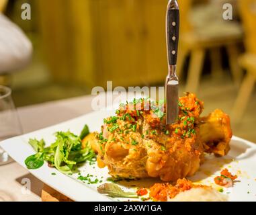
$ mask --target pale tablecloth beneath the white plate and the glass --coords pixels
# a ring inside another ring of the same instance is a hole
[[[93,97],[90,95],[21,107],[18,113],[24,132],[32,132],[91,112],[91,99]],[[26,178],[31,181],[30,193],[22,181]],[[42,182],[17,163],[0,166],[0,201],[1,198],[10,201],[40,201],[41,190]]]

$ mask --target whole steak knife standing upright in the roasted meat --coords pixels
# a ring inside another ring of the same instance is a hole
[[[166,15],[168,75],[165,82],[166,124],[173,124],[179,115],[179,79],[176,75],[179,44],[179,5],[169,0]]]

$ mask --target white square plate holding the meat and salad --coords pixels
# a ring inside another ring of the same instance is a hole
[[[101,124],[103,124],[103,118],[112,116],[114,112],[103,110],[101,112],[91,112],[85,116],[50,126],[42,130],[38,130],[22,136],[17,136],[4,140],[1,142],[1,147],[9,153],[9,155],[17,161],[20,165],[26,168],[24,164],[25,159],[33,155],[35,152],[28,144],[30,138],[41,139],[44,138],[46,144],[54,142],[54,132],[71,130],[75,134],[79,134],[85,124],[88,124],[90,131],[99,131]],[[190,177],[192,181],[204,183],[206,185],[212,185],[216,189],[220,189],[214,184],[214,177],[220,174],[220,171],[225,167],[232,173],[238,175],[237,181],[234,183],[234,187],[228,189],[224,188],[224,193],[228,195],[229,201],[256,201],[256,145],[247,140],[233,137],[231,141],[231,150],[226,157],[216,158],[212,155],[206,156],[206,161],[200,167],[200,170]],[[99,169],[97,164],[89,165],[88,163],[79,168],[81,175],[87,175],[87,173],[94,175],[95,178],[102,180],[101,183],[107,182],[108,169]],[[97,186],[101,183],[88,185],[77,179],[78,175],[64,175],[58,172],[56,169],[48,167],[47,163],[40,169],[29,170],[34,176],[38,177],[41,181],[56,189],[65,196],[75,201],[122,201],[124,199],[108,198],[97,192]],[[55,173],[56,175],[52,175]],[[124,189],[136,190],[134,185],[152,185],[155,179],[146,179],[140,181],[130,181],[121,183],[126,185]],[[125,199],[127,200],[127,199]]]

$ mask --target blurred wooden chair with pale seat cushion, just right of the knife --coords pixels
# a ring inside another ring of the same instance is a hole
[[[195,28],[190,22],[192,0],[179,0],[181,10],[181,36],[178,57],[178,75],[181,77],[183,62],[191,53],[186,91],[196,92],[204,66],[206,50],[210,50],[212,72],[221,71],[220,47],[226,47],[230,63],[230,70],[235,83],[241,80],[241,70],[237,64],[237,44],[241,42],[243,31],[239,24],[232,21],[223,21],[214,26],[206,25]],[[208,9],[211,9],[208,7]],[[205,12],[204,12],[205,13]],[[207,12],[206,12],[207,13]],[[222,13],[220,12],[222,17]]]

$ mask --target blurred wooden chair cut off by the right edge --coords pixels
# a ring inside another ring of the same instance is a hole
[[[256,0],[239,0],[239,11],[245,30],[246,49],[246,53],[239,58],[239,64],[246,69],[247,74],[232,110],[235,123],[241,121],[256,81]]]

